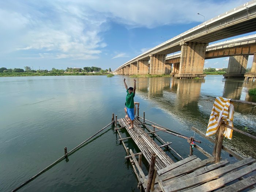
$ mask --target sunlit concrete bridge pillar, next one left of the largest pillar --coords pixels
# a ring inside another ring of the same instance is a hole
[[[149,74],[165,74],[166,55],[151,55]]]

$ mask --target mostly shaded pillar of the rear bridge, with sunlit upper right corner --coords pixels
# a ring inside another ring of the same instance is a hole
[[[229,57],[229,65],[224,78],[244,78],[248,62],[248,55]]]

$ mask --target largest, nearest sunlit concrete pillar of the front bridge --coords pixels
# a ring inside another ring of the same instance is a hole
[[[177,78],[204,78],[204,57],[208,44],[181,42],[181,57]]]

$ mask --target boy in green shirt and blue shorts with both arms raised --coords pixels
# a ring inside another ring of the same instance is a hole
[[[134,79],[134,86],[133,87],[129,87],[127,84],[125,83],[125,79],[124,79],[124,86],[127,92],[126,95],[126,107],[127,107],[127,115],[130,119],[130,122],[128,122],[127,124],[131,124],[131,126],[128,129],[132,129],[133,128],[133,120],[134,120],[134,96],[135,96],[135,90],[136,90],[136,80]]]

